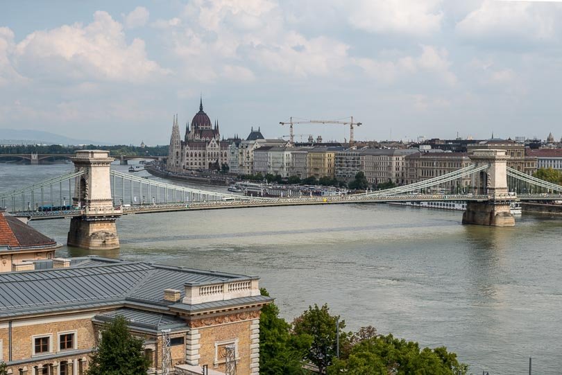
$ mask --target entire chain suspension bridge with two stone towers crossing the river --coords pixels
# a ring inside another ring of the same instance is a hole
[[[80,150],[74,171],[0,194],[0,207],[22,220],[71,218],[68,244],[119,247],[115,222],[123,215],[248,207],[368,202],[465,201],[463,223],[513,226],[514,201],[562,200],[562,186],[508,168],[504,150],[475,150],[470,166],[428,180],[355,195],[265,198],[167,184],[112,171],[108,151]],[[470,184],[461,182],[470,179]],[[448,193],[445,186],[455,186]]]

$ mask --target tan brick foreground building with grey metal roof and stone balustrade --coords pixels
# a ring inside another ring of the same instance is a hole
[[[163,330],[176,374],[259,374],[259,313],[273,299],[257,277],[88,256],[0,274],[0,360],[9,374],[79,375],[103,324],[118,315],[162,374]]]

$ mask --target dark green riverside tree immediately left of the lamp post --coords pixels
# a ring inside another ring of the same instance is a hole
[[[336,322],[339,315],[330,315],[327,304],[318,307],[309,306],[308,310],[293,321],[293,334],[305,338],[312,338],[312,345],[305,356],[307,360],[318,367],[320,374],[325,374],[326,368],[332,364],[336,356]],[[346,328],[344,320],[339,321],[340,332]],[[340,333],[340,345],[346,345],[347,334]]]

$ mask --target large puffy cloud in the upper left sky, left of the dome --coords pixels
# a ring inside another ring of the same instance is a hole
[[[167,73],[148,60],[144,40],[127,44],[123,26],[101,11],[86,26],[64,25],[27,35],[14,55],[24,75],[46,80],[142,82]]]

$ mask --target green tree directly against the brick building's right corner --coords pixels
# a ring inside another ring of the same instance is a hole
[[[260,289],[269,296],[267,290]],[[259,315],[259,372],[264,375],[300,375],[303,371],[303,350],[293,342],[289,323],[279,317],[279,308],[271,303],[262,308]]]

